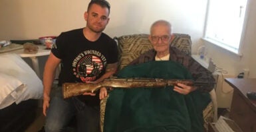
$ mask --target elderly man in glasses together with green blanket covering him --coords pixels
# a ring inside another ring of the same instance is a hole
[[[152,24],[149,40],[154,49],[124,67],[118,77],[193,79],[209,85],[114,89],[106,103],[104,131],[203,131],[202,111],[214,86],[211,73],[190,55],[170,46],[172,26],[166,20]],[[100,98],[104,96],[102,88]]]

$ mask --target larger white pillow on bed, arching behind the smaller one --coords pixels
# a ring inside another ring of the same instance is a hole
[[[19,79],[26,85],[26,90],[15,100],[16,104],[23,100],[40,99],[43,97],[43,84],[35,71],[17,54],[3,53],[0,55],[0,73]]]

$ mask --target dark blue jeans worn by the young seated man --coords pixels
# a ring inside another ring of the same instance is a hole
[[[77,132],[100,131],[99,106],[89,106],[76,97],[63,99],[61,86],[53,89],[51,94],[45,122],[46,132],[66,131],[66,126],[73,117],[76,117]]]

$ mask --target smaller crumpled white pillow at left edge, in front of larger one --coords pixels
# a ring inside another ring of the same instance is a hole
[[[0,73],[0,86],[0,109],[13,104],[27,88],[19,79],[3,73]]]

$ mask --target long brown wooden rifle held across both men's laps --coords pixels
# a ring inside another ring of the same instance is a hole
[[[63,97],[70,98],[78,96],[84,92],[95,92],[101,87],[112,88],[162,88],[165,86],[174,86],[178,83],[186,84],[189,86],[205,86],[210,85],[207,82],[194,82],[192,80],[178,80],[178,79],[148,79],[148,78],[128,78],[118,79],[110,78],[104,79],[97,84],[84,83],[84,82],[65,82],[63,84]]]

